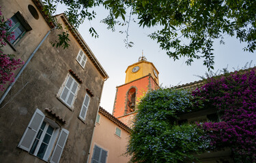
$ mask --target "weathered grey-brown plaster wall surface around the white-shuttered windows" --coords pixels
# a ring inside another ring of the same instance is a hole
[[[33,4],[32,1],[0,1],[0,3],[1,5],[4,3],[5,7],[27,6],[25,3]],[[2,10],[4,9],[2,8]],[[5,13],[8,13],[8,10]],[[60,18],[59,21],[61,21]],[[33,52],[33,48],[44,37],[43,33],[49,30],[46,25],[45,20],[39,20],[29,36],[20,40],[16,53],[29,56]],[[57,34],[60,32],[53,31],[42,43],[38,52],[35,53],[25,71],[0,105],[1,162],[44,162],[17,147],[37,108],[46,117],[57,122],[61,128],[70,132],[59,162],[86,162],[87,160],[104,77],[100,75],[89,58],[87,58],[84,69],[79,65],[76,56],[81,47],[72,35],[70,35],[70,48],[63,50],[51,46],[50,41],[57,39]],[[26,44],[23,45],[24,43]],[[74,109],[69,109],[63,105],[56,96],[67,75],[70,74],[70,69],[83,81],[83,84],[79,84],[80,88],[74,99]],[[79,113],[87,88],[91,90],[94,96],[91,97],[85,121],[82,121],[79,119]],[[46,113],[46,108],[51,109],[57,116],[65,120],[66,124],[61,124],[55,116]]]

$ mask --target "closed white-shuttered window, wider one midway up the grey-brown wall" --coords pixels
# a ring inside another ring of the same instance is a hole
[[[68,79],[66,79],[65,84],[61,88],[59,98],[61,101],[63,101],[63,103],[66,103],[68,107],[72,107],[78,88],[79,84],[76,82],[76,80],[71,75],[68,75]]]

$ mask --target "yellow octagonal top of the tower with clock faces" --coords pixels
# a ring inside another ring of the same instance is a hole
[[[126,69],[126,82],[125,84],[132,82],[141,77],[145,77],[148,74],[152,74],[155,82],[159,85],[158,70],[152,62],[148,62],[145,56],[139,57],[139,62],[136,62]]]

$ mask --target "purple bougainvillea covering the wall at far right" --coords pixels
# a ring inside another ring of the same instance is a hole
[[[256,69],[212,77],[193,96],[221,115],[222,122],[200,124],[212,147],[231,147],[236,162],[256,162]]]

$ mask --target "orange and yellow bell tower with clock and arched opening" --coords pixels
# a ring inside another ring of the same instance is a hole
[[[136,103],[147,90],[159,88],[158,70],[152,62],[148,62],[145,56],[139,57],[139,61],[128,66],[126,80],[121,86],[117,86],[113,115],[127,126],[132,125],[136,114]]]

